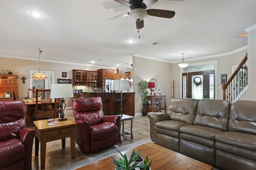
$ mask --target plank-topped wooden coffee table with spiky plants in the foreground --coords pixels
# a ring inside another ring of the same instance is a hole
[[[170,149],[166,149],[154,143],[146,143],[144,145],[140,145],[134,148],[135,151],[140,149],[140,154],[142,154],[145,159],[148,156],[149,160],[152,160],[151,169],[153,170],[212,170],[213,167],[175,152]],[[133,149],[126,150],[122,152],[122,154],[126,154],[128,157],[131,156]],[[113,158],[118,160],[120,158],[120,154],[115,154]],[[88,164],[86,166],[80,167],[77,170],[114,170],[115,164],[111,156],[108,158],[99,160],[98,162],[94,162],[92,164]]]

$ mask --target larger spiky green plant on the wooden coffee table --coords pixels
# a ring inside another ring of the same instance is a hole
[[[119,160],[115,160],[112,157],[113,162],[116,165],[116,170],[135,170],[135,168],[143,168],[142,165],[138,165],[139,162],[134,162],[134,159],[138,156],[138,152],[135,152],[133,150],[129,160],[126,154],[122,154],[119,150],[118,152],[122,156],[122,158],[119,158]]]

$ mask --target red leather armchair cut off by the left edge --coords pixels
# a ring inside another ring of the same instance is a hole
[[[31,170],[36,131],[25,128],[23,100],[0,102],[0,169]]]

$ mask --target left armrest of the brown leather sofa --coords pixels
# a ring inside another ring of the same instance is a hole
[[[158,121],[164,121],[164,120],[170,120],[169,115],[164,112],[149,112],[148,113],[148,119],[150,123],[150,138],[151,141],[155,141],[155,123]]]

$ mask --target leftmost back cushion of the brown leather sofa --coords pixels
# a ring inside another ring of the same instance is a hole
[[[170,120],[193,124],[197,103],[198,100],[190,98],[170,99],[166,113],[170,116]]]

